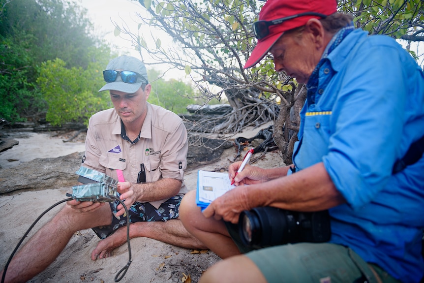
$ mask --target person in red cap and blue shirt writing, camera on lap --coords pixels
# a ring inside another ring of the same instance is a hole
[[[271,53],[276,71],[306,84],[299,141],[289,166],[236,175],[242,162],[231,164],[236,187],[203,212],[195,192],[184,196],[183,225],[224,259],[201,283],[423,278],[423,70],[336,8],[268,0],[253,24],[244,67]]]

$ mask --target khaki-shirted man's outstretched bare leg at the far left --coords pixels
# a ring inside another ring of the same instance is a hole
[[[108,225],[111,220],[109,205],[90,213],[78,213],[65,205],[13,257],[6,271],[5,282],[27,282],[56,259],[76,231]]]

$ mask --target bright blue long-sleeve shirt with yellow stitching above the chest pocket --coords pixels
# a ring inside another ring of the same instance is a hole
[[[423,70],[394,39],[355,30],[329,54],[306,100],[293,160],[298,169],[323,162],[347,201],[330,210],[331,242],[419,282],[424,156],[392,169],[424,136]]]

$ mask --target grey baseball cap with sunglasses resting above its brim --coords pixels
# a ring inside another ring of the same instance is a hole
[[[147,70],[144,63],[135,57],[124,55],[124,56],[120,56],[115,59],[112,59],[108,63],[106,70],[133,71],[141,75],[143,78],[138,76],[137,81],[133,84],[124,83],[122,82],[121,75],[118,74],[114,82],[107,83],[99,90],[99,92],[113,90],[113,91],[119,91],[119,92],[123,92],[127,94],[132,94],[138,91],[138,89],[141,87],[143,83],[145,84],[149,83],[147,78]]]

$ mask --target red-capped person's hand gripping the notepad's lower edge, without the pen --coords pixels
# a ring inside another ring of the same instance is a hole
[[[230,221],[234,224],[239,222],[240,213],[251,207],[247,201],[248,186],[239,186],[231,189],[218,197],[203,211],[206,218],[213,216],[216,220]]]

